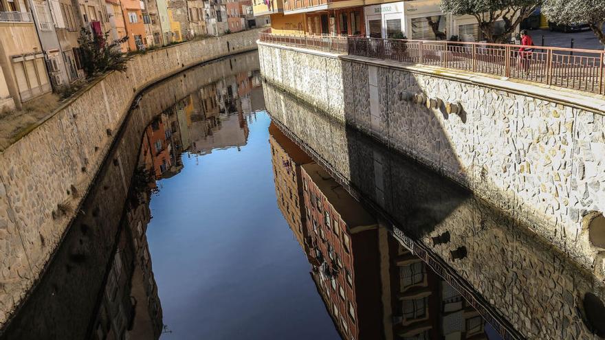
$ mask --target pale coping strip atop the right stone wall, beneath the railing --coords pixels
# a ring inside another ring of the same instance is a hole
[[[388,67],[390,69],[401,69],[405,71],[410,71],[412,73],[421,73],[435,78],[454,80],[457,82],[474,84],[481,87],[498,89],[518,95],[526,95],[528,97],[540,100],[548,100],[557,104],[571,106],[575,109],[582,109],[584,111],[597,113],[599,115],[605,115],[605,96],[596,95],[593,93],[586,93],[584,91],[564,89],[562,87],[527,82],[524,80],[513,80],[507,77],[494,77],[489,76],[485,73],[471,73],[467,71],[459,71],[456,69],[446,69],[444,67],[435,67],[421,64],[406,64],[390,60],[366,58],[361,56],[350,56],[348,54],[323,52],[316,49],[305,49],[301,47],[265,43],[262,41],[256,41],[256,44],[275,47],[279,49],[289,49],[296,52],[313,54],[316,56],[349,60],[356,63]]]

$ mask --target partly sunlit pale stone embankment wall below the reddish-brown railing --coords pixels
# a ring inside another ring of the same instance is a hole
[[[264,43],[259,55],[268,82],[471,189],[605,277],[605,249],[591,245],[582,223],[605,212],[602,113],[443,71]],[[427,109],[408,92],[464,112]]]

